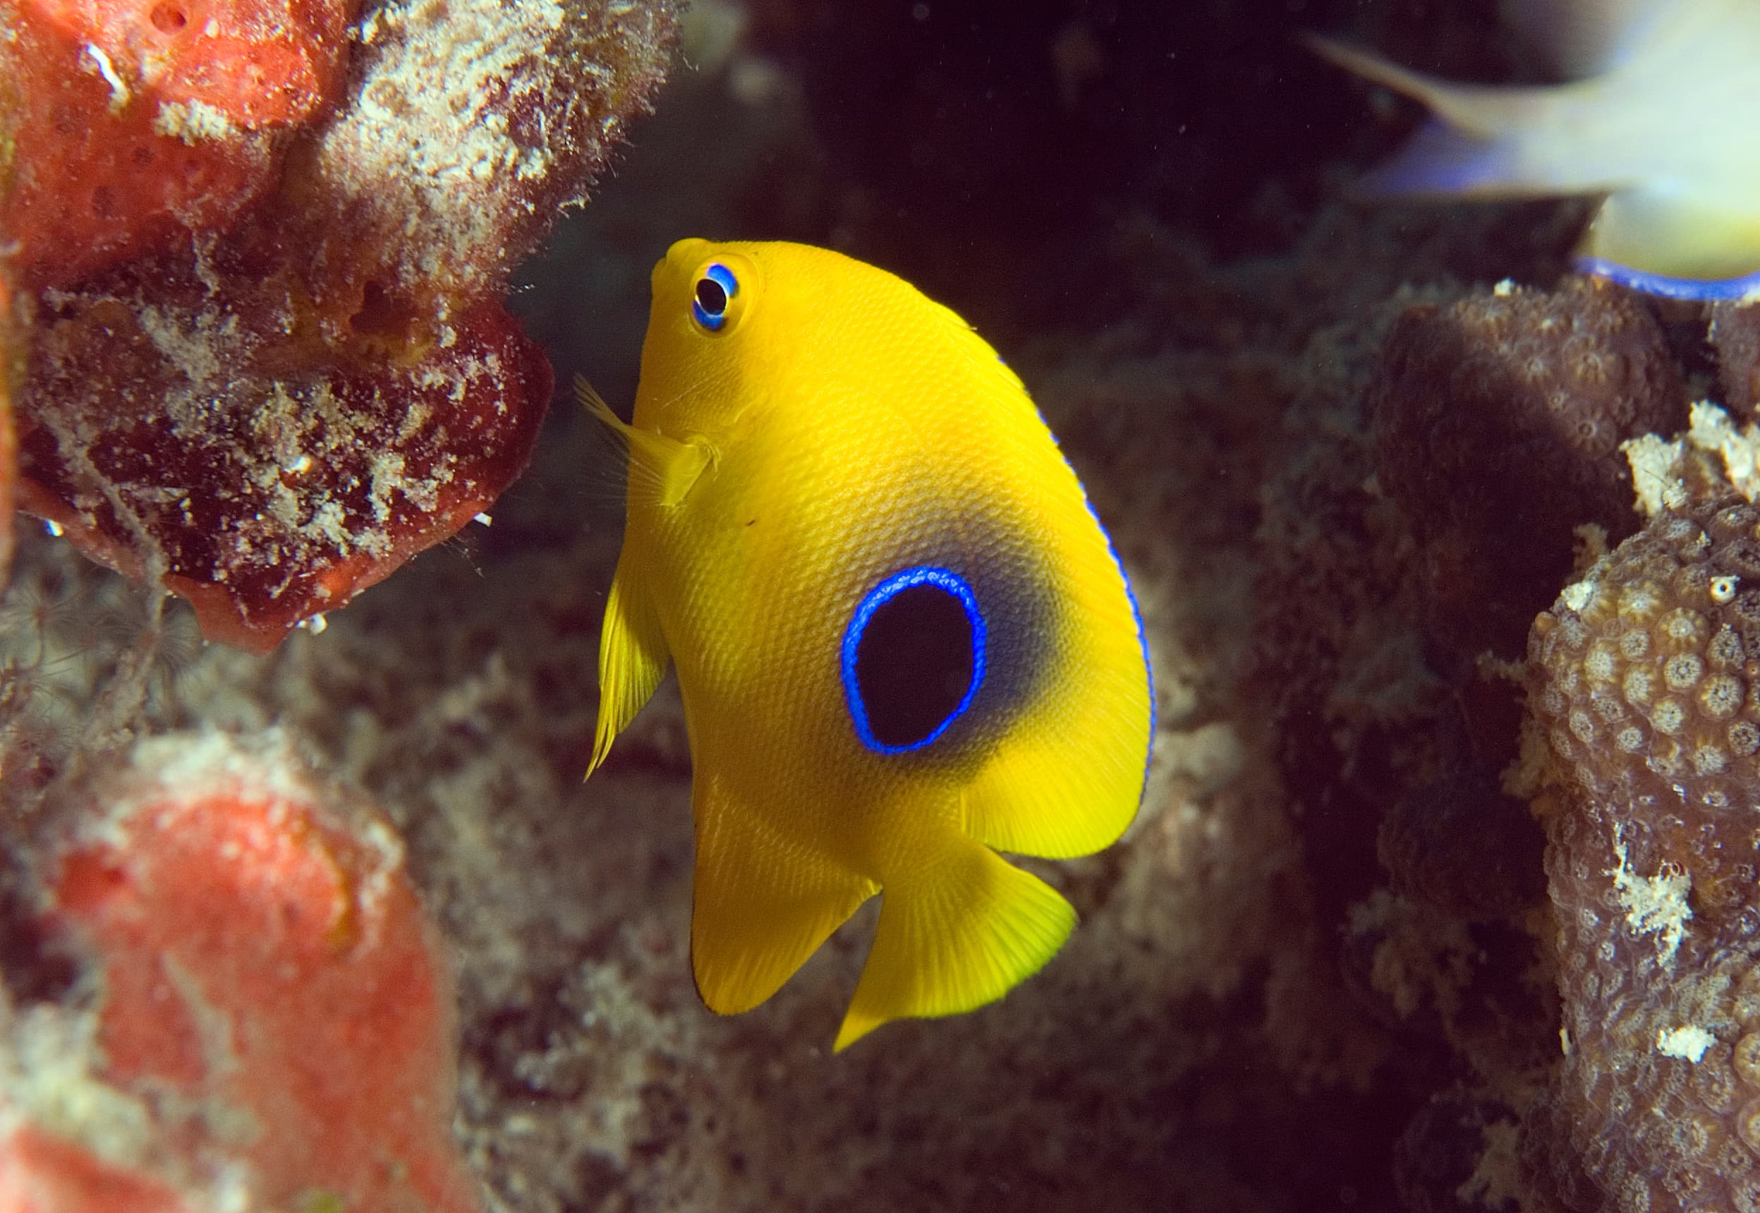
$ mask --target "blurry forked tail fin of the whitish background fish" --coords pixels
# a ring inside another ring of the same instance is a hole
[[[1332,39],[1302,40],[1324,60],[1436,114],[1392,160],[1362,178],[1357,188],[1364,195],[1519,197],[1561,188],[1545,162],[1522,155],[1522,134],[1544,121],[1556,104],[1556,86],[1450,85]]]

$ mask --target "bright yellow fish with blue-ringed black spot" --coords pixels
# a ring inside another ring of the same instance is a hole
[[[593,768],[671,658],[702,1000],[759,1005],[876,893],[838,1049],[1038,972],[1075,910],[996,850],[1114,842],[1155,709],[1130,586],[1021,380],[882,269],[685,239],[632,424],[581,396],[630,447]]]

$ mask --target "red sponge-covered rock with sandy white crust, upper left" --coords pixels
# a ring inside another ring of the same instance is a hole
[[[77,23],[0,5],[30,58],[0,92],[0,229],[40,303],[21,505],[253,650],[524,468],[551,371],[507,276],[646,106],[672,23],[664,0],[268,7],[160,0],[37,53]]]

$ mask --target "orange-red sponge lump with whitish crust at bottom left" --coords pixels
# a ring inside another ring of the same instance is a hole
[[[391,827],[218,734],[143,743],[92,796],[37,877],[95,998],[0,1021],[0,1208],[477,1209]]]

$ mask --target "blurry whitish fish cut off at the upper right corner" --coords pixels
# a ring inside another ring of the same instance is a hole
[[[1760,294],[1760,0],[1522,5],[1568,85],[1454,85],[1329,39],[1325,58],[1433,120],[1373,194],[1605,194],[1580,268],[1654,294]]]

